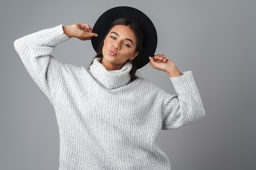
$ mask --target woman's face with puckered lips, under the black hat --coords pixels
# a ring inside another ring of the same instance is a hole
[[[135,51],[137,40],[129,26],[114,26],[106,38],[102,48],[102,64],[107,70],[119,70],[127,60],[132,60],[139,52]]]

